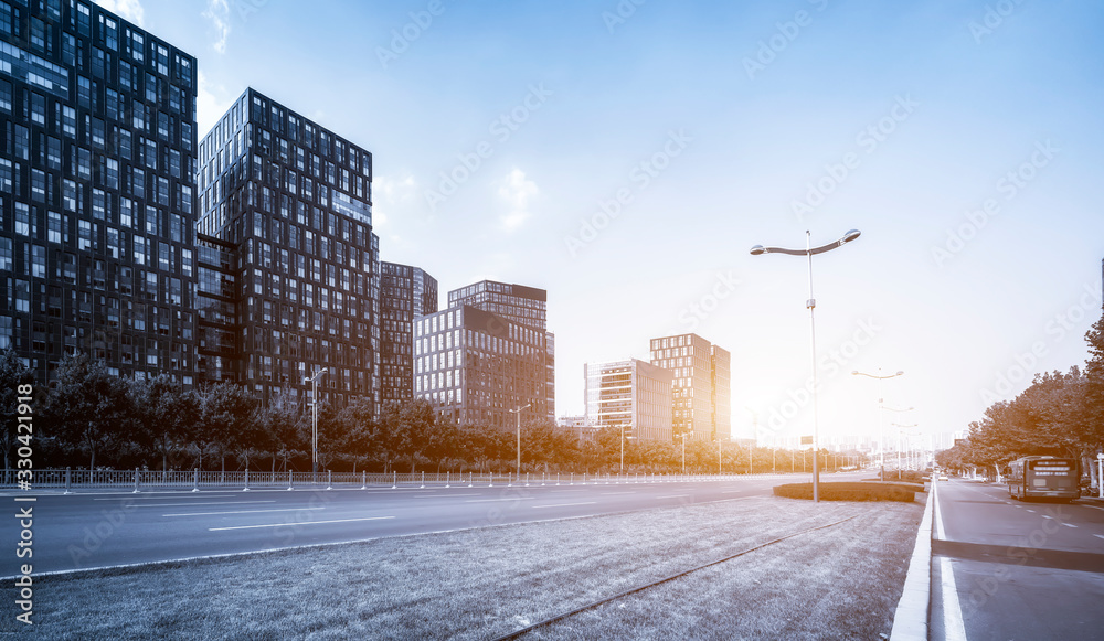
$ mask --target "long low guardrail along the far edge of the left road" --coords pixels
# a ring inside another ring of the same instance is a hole
[[[33,470],[31,481],[26,474],[19,477],[19,470],[0,471],[0,489],[56,489],[70,493],[76,490],[110,489],[131,492],[159,489],[182,489],[199,492],[213,489],[285,489],[298,488],[476,488],[514,485],[594,485],[625,483],[678,483],[697,481],[725,481],[734,479],[761,479],[785,474],[476,474],[474,472],[415,472],[401,474],[368,472],[258,472],[258,471],[153,471],[153,470]]]

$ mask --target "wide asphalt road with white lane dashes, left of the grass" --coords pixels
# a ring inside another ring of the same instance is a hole
[[[826,474],[826,480],[842,474]],[[767,495],[806,476],[725,481],[368,490],[162,491],[26,494],[0,501],[32,510],[33,557],[17,558],[20,519],[0,519],[0,576],[71,571],[149,562],[364,541]]]

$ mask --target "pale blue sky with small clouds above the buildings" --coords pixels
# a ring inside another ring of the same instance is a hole
[[[809,265],[749,252],[806,232],[861,232],[813,259],[821,438],[880,396],[887,438],[965,430],[1101,316],[1096,2],[100,4],[199,58],[201,136],[252,86],[370,150],[382,259],[443,305],[546,289],[561,416],[692,331],[733,436],[811,434]]]

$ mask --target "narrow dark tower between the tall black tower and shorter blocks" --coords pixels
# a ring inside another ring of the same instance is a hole
[[[437,311],[437,280],[417,267],[380,263],[383,404],[414,397],[414,319]]]

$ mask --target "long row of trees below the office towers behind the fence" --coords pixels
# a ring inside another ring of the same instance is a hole
[[[33,381],[11,351],[0,354],[0,399],[6,425],[14,425],[15,389]],[[229,383],[182,389],[169,376],[129,380],[85,354],[66,356],[52,385],[35,388],[32,403],[35,467],[116,469],[318,469],[390,472],[516,471],[513,430],[457,426],[438,420],[422,399],[373,416],[368,400],[340,410],[320,403],[317,457],[314,416],[304,399],[277,392],[267,403]],[[0,435],[4,468],[21,445],[13,429]],[[821,452],[821,467],[838,469],[859,455]],[[534,420],[521,429],[521,470],[529,472],[766,472],[807,471],[811,452],[749,448],[736,444],[623,441],[608,427],[584,435]],[[47,462],[49,461],[49,462]],[[227,468],[229,464],[229,468]]]

